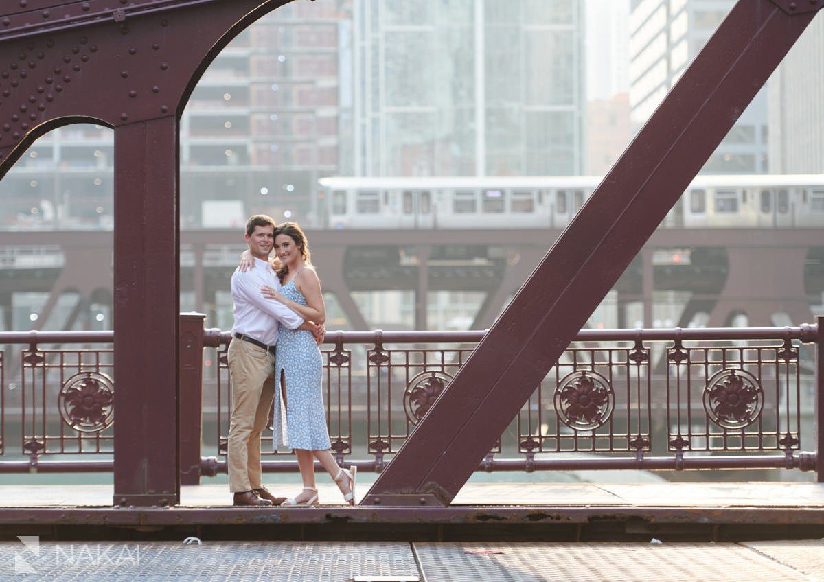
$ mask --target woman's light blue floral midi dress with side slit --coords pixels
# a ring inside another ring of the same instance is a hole
[[[297,277],[297,273],[295,273]],[[295,288],[294,277],[280,289],[284,297],[300,305],[306,298]],[[274,407],[275,448],[325,450],[331,446],[321,382],[323,361],[321,351],[311,332],[289,329],[278,324],[278,347],[274,360],[274,385],[277,394]],[[286,384],[286,401],[280,384],[281,370]]]

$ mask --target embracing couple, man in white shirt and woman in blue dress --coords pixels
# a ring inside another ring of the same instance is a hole
[[[249,250],[232,275],[235,324],[228,348],[232,418],[227,462],[234,505],[317,505],[315,459],[354,505],[355,467],[330,453],[321,393],[325,306],[306,235],[257,214],[246,222]],[[269,253],[274,259],[269,263]],[[294,449],[303,490],[291,499],[264,487],[260,436],[274,406],[274,446]]]

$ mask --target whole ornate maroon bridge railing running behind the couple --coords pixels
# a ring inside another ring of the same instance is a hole
[[[817,470],[822,319],[797,328],[584,330],[507,431],[490,436],[478,470]],[[231,338],[203,324],[201,314],[180,316],[185,484],[226,471]],[[328,333],[321,353],[333,452],[381,471],[482,337]],[[0,333],[0,454],[17,457],[0,461],[0,471],[111,470],[112,342],[111,332]],[[13,451],[7,426],[20,440]],[[270,431],[263,450],[265,470],[297,471]]]

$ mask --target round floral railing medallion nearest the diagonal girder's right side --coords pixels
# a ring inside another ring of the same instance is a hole
[[[566,375],[555,389],[555,412],[564,425],[577,431],[602,426],[615,409],[609,380],[592,370]]]

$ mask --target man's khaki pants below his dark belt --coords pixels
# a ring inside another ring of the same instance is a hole
[[[229,489],[259,489],[260,435],[274,400],[274,355],[250,342],[232,338],[228,349],[232,377],[232,419],[229,422]]]

